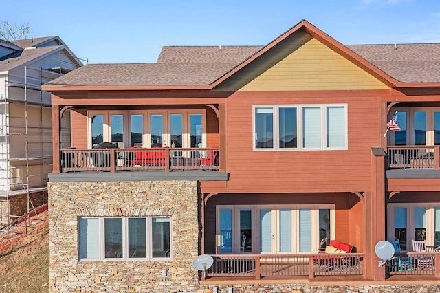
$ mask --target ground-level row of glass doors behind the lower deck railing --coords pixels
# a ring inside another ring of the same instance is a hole
[[[333,204],[217,206],[217,253],[311,253],[335,231]]]

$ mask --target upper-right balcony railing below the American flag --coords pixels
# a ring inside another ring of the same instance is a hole
[[[440,146],[388,146],[388,169],[440,169]]]

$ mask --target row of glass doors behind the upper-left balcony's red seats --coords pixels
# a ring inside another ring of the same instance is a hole
[[[205,110],[89,111],[89,147],[206,147]]]

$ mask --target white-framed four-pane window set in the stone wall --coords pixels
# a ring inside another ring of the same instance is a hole
[[[80,261],[170,259],[169,217],[80,217]]]

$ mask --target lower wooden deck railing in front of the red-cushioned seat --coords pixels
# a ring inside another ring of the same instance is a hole
[[[205,277],[349,276],[364,274],[364,254],[217,254]]]

